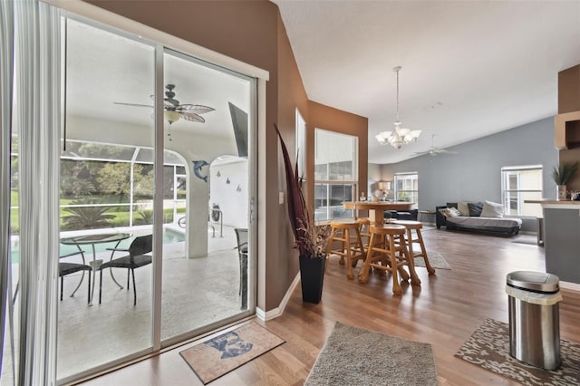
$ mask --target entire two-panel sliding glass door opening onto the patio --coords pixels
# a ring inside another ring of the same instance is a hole
[[[76,17],[63,28],[59,267],[73,268],[57,370],[73,381],[253,313],[256,84]]]

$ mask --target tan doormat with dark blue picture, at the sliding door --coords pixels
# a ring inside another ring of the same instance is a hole
[[[203,384],[285,343],[283,339],[256,322],[247,323],[227,333],[179,352]]]

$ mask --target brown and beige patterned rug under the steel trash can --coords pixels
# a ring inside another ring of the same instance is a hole
[[[548,371],[509,354],[509,325],[486,319],[455,356],[524,385],[580,385],[580,343],[560,340],[562,366]]]

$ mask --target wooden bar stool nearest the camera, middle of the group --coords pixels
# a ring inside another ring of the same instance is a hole
[[[359,283],[366,283],[369,280],[371,267],[388,271],[392,275],[392,293],[400,295],[402,290],[397,272],[401,270],[404,272],[402,267],[407,265],[411,274],[411,285],[420,285],[419,276],[415,273],[415,266],[405,244],[405,232],[405,227],[396,224],[385,224],[382,227],[371,226],[371,240],[364,265],[362,265]],[[396,238],[399,239],[400,246],[395,243]],[[383,240],[384,245],[382,245]],[[402,275],[401,278],[403,278]]]

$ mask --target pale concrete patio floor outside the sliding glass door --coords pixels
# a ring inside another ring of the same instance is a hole
[[[239,259],[232,227],[223,237],[208,231],[208,256],[183,257],[184,242],[164,245],[161,339],[199,329],[240,313]],[[98,254],[107,261],[110,253]],[[127,270],[115,269],[125,286]],[[63,301],[58,304],[58,378],[63,379],[95,366],[150,347],[152,265],[135,270],[137,305],[133,291],[120,289],[108,272],[102,276],[99,304],[99,272],[92,306],[87,305],[87,277],[70,297],[81,274],[64,278]],[[18,305],[19,302],[16,302]],[[18,310],[14,309],[15,314]]]

